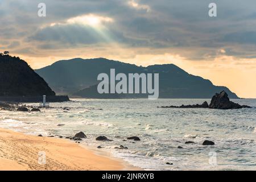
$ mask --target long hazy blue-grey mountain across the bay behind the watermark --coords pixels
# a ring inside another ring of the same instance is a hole
[[[211,98],[215,93],[225,90],[230,98],[238,98],[225,86],[215,86],[209,80],[193,76],[174,64],[151,65],[138,67],[134,64],[119,61],[98,59],[71,59],[62,60],[38,69],[36,72],[42,76],[56,92],[76,93],[82,97],[97,97],[97,76],[100,73],[109,75],[110,69],[115,68],[117,73],[159,73],[160,98]],[[93,91],[94,89],[94,91]],[[80,90],[78,92],[78,90]],[[93,95],[95,92],[95,95]],[[119,97],[147,97],[148,94]],[[107,96],[108,97],[108,96]]]

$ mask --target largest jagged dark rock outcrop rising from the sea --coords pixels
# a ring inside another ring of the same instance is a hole
[[[210,101],[210,109],[241,109],[241,108],[250,108],[250,106],[239,105],[229,100],[228,94],[225,91],[221,93],[216,93]]]

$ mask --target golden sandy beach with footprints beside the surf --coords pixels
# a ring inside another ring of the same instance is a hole
[[[46,163],[42,160],[46,154]],[[40,164],[41,163],[41,164]],[[132,170],[118,159],[95,154],[67,139],[0,129],[0,170]]]

